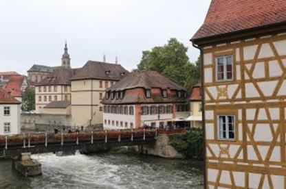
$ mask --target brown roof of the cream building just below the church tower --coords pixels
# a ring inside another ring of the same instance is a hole
[[[47,75],[45,79],[35,84],[35,86],[70,85],[70,79],[80,71],[80,68],[58,68]]]

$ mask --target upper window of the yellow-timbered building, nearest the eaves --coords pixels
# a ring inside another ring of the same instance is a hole
[[[233,72],[232,55],[223,55],[216,58],[216,79],[217,81],[232,80]]]

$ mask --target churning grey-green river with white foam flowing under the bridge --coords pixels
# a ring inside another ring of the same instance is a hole
[[[43,175],[23,177],[12,171],[10,160],[0,160],[0,188],[203,188],[201,162],[111,153],[32,157],[41,162]]]

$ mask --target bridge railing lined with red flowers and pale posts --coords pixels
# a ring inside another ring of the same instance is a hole
[[[124,129],[124,130],[105,130],[105,131],[80,131],[71,133],[29,133],[17,135],[1,135],[0,148],[8,149],[9,147],[33,147],[36,145],[61,144],[80,142],[108,142],[121,140],[146,140],[156,138],[157,130],[155,129]]]

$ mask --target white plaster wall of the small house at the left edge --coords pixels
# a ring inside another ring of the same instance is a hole
[[[10,116],[4,116],[4,107],[10,107]],[[4,123],[10,123],[10,134],[19,134],[20,125],[20,104],[1,104],[0,105],[0,134],[4,134]]]

